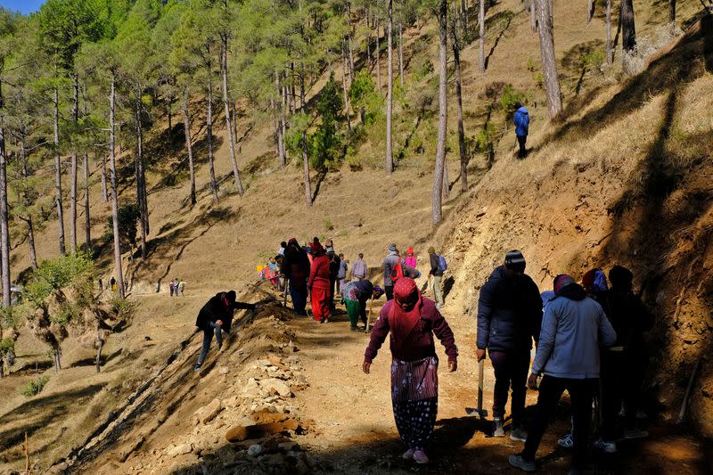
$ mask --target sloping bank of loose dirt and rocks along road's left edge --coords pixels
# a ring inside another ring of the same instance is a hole
[[[285,323],[291,313],[268,283],[241,292],[249,296],[258,299],[258,311],[243,312],[200,373],[193,371],[202,342],[196,332],[49,472],[171,473],[196,464],[208,473],[313,471],[316,462],[291,441],[313,425],[294,405],[308,382]]]

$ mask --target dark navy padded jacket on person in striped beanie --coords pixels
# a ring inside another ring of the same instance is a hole
[[[542,299],[528,275],[509,274],[499,266],[480,288],[478,348],[529,351],[539,338]]]

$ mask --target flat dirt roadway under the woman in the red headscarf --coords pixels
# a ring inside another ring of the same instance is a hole
[[[447,373],[443,347],[437,343],[441,358],[438,422],[427,467],[417,467],[400,458],[404,449],[391,411],[388,341],[374,360],[372,373],[366,375],[361,364],[368,336],[349,332],[346,315],[337,315],[334,323],[322,325],[306,318],[292,321],[291,326],[299,334],[300,355],[310,381],[310,388],[299,394],[299,412],[316,421],[316,431],[300,440],[300,444],[325,468],[340,473],[520,472],[511,469],[506,460],[507,455],[519,452],[522,444],[510,438],[489,437],[489,422],[480,422],[464,413],[464,407],[474,405],[476,397],[475,324],[469,317],[451,315],[448,307],[444,315],[455,332],[459,367],[456,373]],[[484,403],[488,413],[493,381],[488,361]],[[530,391],[528,405],[536,401],[537,394]],[[561,411],[538,452],[538,457],[543,457],[541,472],[568,471],[568,451],[556,446],[558,436],[568,426],[569,411]],[[710,473],[713,466],[710,443],[670,426],[650,429],[652,437],[645,441],[620,443],[618,455],[606,458],[594,455],[596,472]]]

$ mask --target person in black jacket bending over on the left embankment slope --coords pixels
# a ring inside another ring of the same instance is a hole
[[[201,365],[208,355],[210,341],[213,340],[213,333],[216,335],[218,351],[223,348],[222,332],[229,333],[233,325],[233,312],[237,309],[255,310],[254,304],[235,301],[235,291],[217,292],[201,308],[195,320],[195,326],[203,331],[203,347],[201,355],[198,356],[198,363],[195,371],[201,371]]]

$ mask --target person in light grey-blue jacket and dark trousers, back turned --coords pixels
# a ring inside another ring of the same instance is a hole
[[[617,334],[602,306],[586,296],[586,291],[567,274],[554,278],[556,297],[547,304],[535,362],[528,379],[537,389],[537,377],[545,373],[539,386],[535,415],[525,448],[508,462],[523,471],[535,471],[535,454],[547,424],[557,410],[565,389],[570,393],[574,430],[571,473],[586,469],[587,441],[592,419],[592,398],[599,388],[600,347],[611,347]]]

